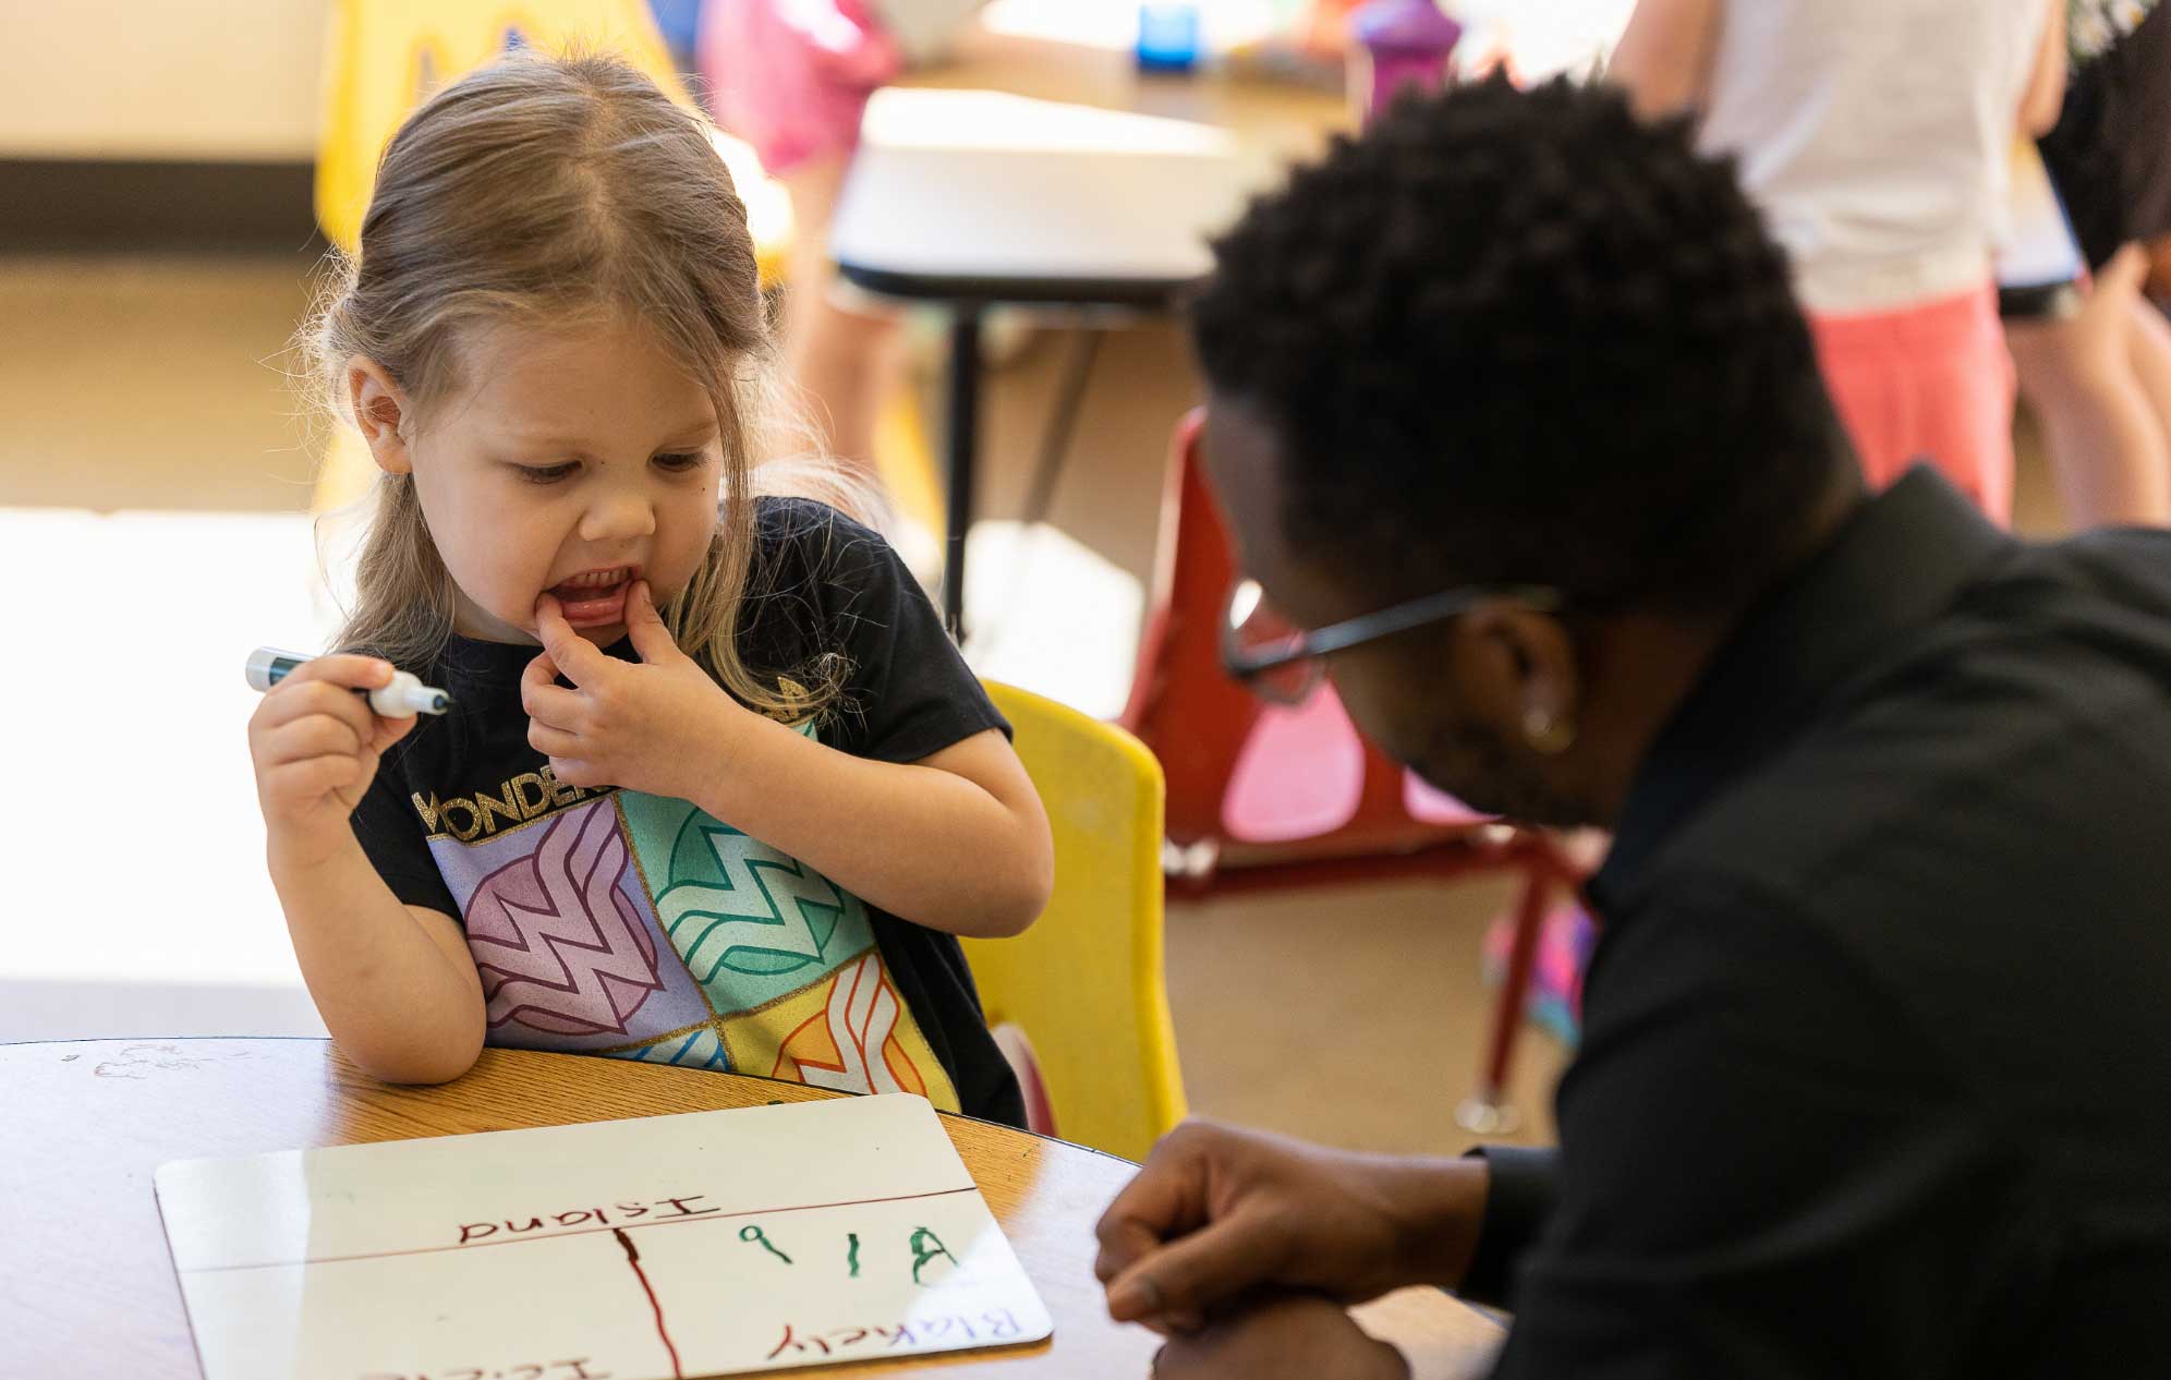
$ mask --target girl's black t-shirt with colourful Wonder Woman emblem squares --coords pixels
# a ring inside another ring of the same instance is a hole
[[[877,762],[1010,731],[879,536],[790,499],[762,499],[756,525],[742,657],[801,683],[823,657],[849,666],[836,710],[801,731]],[[521,710],[536,651],[454,638],[408,666],[454,707],[386,753],[354,812],[393,894],[465,927],[488,1044],[918,1091],[1023,1124],[953,935],[686,801],[556,781]],[[630,640],[606,651],[636,660]]]

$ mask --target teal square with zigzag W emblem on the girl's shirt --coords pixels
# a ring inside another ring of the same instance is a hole
[[[721,1015],[818,983],[875,942],[821,872],[686,801],[619,792],[656,918]]]

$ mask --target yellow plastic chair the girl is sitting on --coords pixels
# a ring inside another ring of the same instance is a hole
[[[966,940],[988,1024],[1025,1031],[1055,1135],[1142,1159],[1183,1120],[1161,981],[1161,764],[1114,725],[988,683],[1055,831],[1055,898],[1016,940]]]

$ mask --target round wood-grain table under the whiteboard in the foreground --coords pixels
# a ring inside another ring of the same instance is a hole
[[[393,1087],[323,1039],[104,1039],[0,1046],[0,1373],[198,1376],[152,1198],[169,1159],[562,1126],[838,1094],[619,1059],[484,1050],[445,1087]],[[1146,1376],[1157,1339],[1107,1319],[1092,1224],[1135,1165],[968,1117],[942,1117],[1055,1315],[1055,1341],[1003,1354],[838,1365],[821,1376],[953,1369],[1018,1380]],[[1459,1308],[1422,1324],[1496,1330]]]

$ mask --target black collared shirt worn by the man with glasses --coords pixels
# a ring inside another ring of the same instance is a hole
[[[1643,759],[1502,1380],[2171,1376],[2171,534],[1917,469]]]

